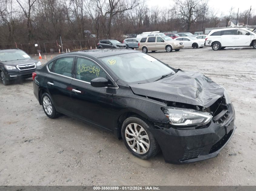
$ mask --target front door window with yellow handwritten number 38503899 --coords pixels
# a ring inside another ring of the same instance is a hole
[[[114,61],[110,60],[109,62],[113,63]],[[89,59],[77,58],[76,79],[90,83],[94,78],[107,78],[107,76],[103,69],[95,62]]]

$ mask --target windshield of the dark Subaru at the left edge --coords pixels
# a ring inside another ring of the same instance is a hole
[[[23,60],[23,59],[30,59],[30,56],[28,56],[22,50],[14,50],[11,52],[0,53],[0,60],[2,62],[12,61],[12,60]]]

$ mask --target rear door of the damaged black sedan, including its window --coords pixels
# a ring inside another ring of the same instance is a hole
[[[71,114],[71,81],[75,57],[62,57],[55,60],[46,77],[48,91],[57,111]],[[48,65],[48,66],[49,66]],[[47,66],[47,67],[48,67]]]

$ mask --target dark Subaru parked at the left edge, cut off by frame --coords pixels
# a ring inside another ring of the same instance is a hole
[[[32,78],[41,62],[32,59],[20,49],[0,50],[0,77],[4,85],[21,78]]]

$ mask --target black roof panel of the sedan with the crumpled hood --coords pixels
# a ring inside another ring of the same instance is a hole
[[[77,52],[66,53],[65,55],[77,54],[80,56],[89,55],[95,58],[101,58],[106,56],[114,56],[119,54],[127,54],[127,53],[138,53],[140,51],[133,49],[93,49],[93,50],[82,50]],[[63,56],[61,54],[60,56]]]

